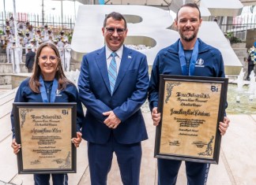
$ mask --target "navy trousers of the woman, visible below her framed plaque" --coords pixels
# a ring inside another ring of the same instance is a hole
[[[34,174],[35,185],[50,185],[50,176],[53,185],[67,185],[67,174]]]

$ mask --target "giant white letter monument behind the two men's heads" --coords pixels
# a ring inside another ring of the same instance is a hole
[[[84,54],[104,46],[104,36],[101,31],[104,18],[108,13],[116,11],[122,13],[127,20],[128,34],[125,44],[149,46],[148,49],[140,50],[140,52],[147,56],[150,67],[157,52],[179,38],[179,33],[173,27],[175,11],[183,3],[194,1],[172,0],[170,5],[164,6],[163,9],[159,8],[160,6],[131,5],[132,3],[127,5],[122,2],[127,3],[129,1],[112,0],[108,1],[107,5],[83,5],[79,7],[71,43],[74,61],[79,63]],[[158,2],[163,1],[159,0]],[[241,13],[242,3],[239,0],[201,0],[198,1],[198,4],[200,4],[201,17],[203,18],[198,37],[221,51],[227,75],[238,75],[242,64],[219,26],[215,21],[209,20],[209,17],[235,17]],[[165,10],[167,7],[170,10]]]

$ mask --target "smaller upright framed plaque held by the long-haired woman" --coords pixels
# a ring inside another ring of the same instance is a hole
[[[13,103],[19,174],[77,171],[76,103]]]

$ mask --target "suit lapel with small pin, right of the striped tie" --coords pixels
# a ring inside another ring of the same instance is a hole
[[[119,87],[119,84],[121,83],[123,77],[126,75],[126,72],[129,68],[132,60],[133,60],[133,55],[132,55],[131,50],[126,48],[126,46],[123,46],[122,59],[121,59],[120,67],[119,67],[119,74],[115,81],[115,88],[114,88],[113,94],[115,93],[115,90]]]

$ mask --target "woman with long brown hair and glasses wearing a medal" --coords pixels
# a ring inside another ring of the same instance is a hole
[[[58,93],[58,96],[55,96],[55,92]],[[77,138],[71,140],[76,147],[79,147],[84,113],[78,98],[77,87],[66,79],[58,49],[54,44],[43,43],[40,45],[36,52],[33,74],[21,83],[14,102],[77,102]],[[15,139],[13,112],[11,113],[11,122],[13,153],[17,154],[21,145],[17,144]],[[66,174],[34,174],[35,184],[50,184],[50,176],[52,176],[54,185],[67,184]]]

